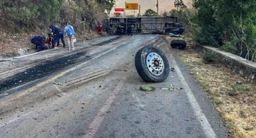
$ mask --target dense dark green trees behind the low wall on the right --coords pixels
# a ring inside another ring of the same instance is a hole
[[[193,0],[193,7],[198,10],[193,17],[196,41],[255,58],[256,1]]]

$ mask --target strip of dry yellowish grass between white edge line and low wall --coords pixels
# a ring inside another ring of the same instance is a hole
[[[203,53],[193,50],[192,41],[186,40],[187,49],[178,50],[178,56],[212,99],[232,137],[256,137],[255,84],[246,82],[223,64],[205,64]],[[237,84],[237,80],[242,84]]]

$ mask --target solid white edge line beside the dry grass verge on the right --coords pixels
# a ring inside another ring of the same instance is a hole
[[[173,58],[172,54],[170,54],[170,59],[173,62],[173,67],[176,68],[175,71],[178,74],[178,77],[180,78],[181,83],[184,86],[184,89],[186,89],[187,98],[189,99],[192,109],[196,114],[196,118],[198,119],[198,122],[200,122],[200,125],[202,127],[202,130],[204,131],[205,136],[209,137],[209,138],[217,137],[213,131],[213,128],[211,127],[210,123],[208,122],[207,118],[205,117],[204,113],[202,112],[201,107],[199,106],[198,102],[196,101],[195,96],[193,95],[189,85],[187,84],[183,74],[181,73],[180,68],[176,64],[176,61]]]

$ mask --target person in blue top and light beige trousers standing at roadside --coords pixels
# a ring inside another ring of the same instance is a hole
[[[67,48],[69,50],[75,50],[75,47],[73,46],[73,37],[75,35],[75,31],[73,31],[73,26],[70,25],[69,22],[66,23],[64,34],[67,41]]]

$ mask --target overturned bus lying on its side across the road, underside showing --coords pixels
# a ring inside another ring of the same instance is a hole
[[[182,34],[183,23],[178,17],[110,17],[104,21],[105,31],[110,35],[126,34],[131,25],[133,34]]]

